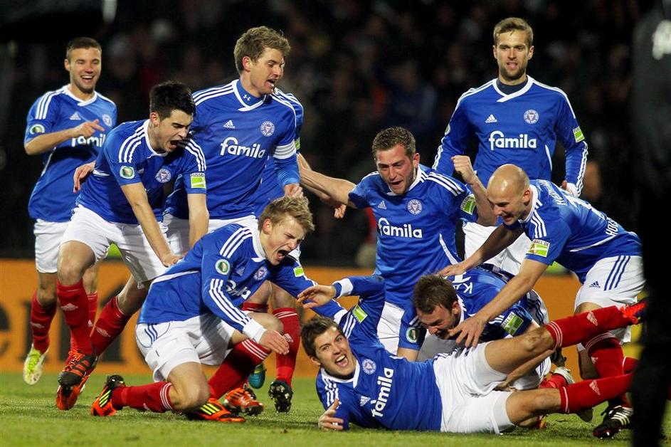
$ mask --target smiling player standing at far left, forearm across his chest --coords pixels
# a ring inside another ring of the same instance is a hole
[[[107,133],[117,121],[117,106],[95,91],[102,70],[102,48],[93,38],[68,42],[65,70],[70,83],[42,95],[28,112],[23,147],[41,155],[44,169],[28,211],[35,219],[35,265],[38,285],[31,301],[33,343],[23,363],[23,380],[34,385],[42,376],[49,349],[49,328],[56,314],[56,258],[58,245],[75,206],[72,173],[79,164],[95,159]],[[97,268],[86,270],[88,325],[97,310]],[[75,343],[71,342],[75,348]]]

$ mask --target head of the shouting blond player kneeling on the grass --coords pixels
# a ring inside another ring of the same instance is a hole
[[[278,265],[315,230],[307,198],[283,196],[271,201],[258,219],[258,230],[265,257]]]

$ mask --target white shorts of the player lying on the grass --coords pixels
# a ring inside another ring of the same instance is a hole
[[[487,343],[433,362],[435,384],[443,403],[440,431],[500,433],[514,426],[506,411],[510,391],[495,391],[506,374],[497,372],[485,358]]]

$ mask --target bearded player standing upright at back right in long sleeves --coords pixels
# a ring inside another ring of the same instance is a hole
[[[562,188],[579,196],[587,162],[587,143],[569,98],[527,75],[534,56],[534,31],[529,23],[509,17],[494,27],[494,58],[499,75],[461,95],[435,156],[433,169],[451,175],[451,157],[463,154],[470,137],[477,138],[473,167],[482,184],[505,163],[517,164],[532,179],[549,180],[556,141],[566,149],[566,180]],[[465,256],[482,245],[493,227],[465,222]],[[485,262],[517,273],[529,248],[526,236]]]

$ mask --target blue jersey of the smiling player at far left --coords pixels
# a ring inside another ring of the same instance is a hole
[[[31,107],[26,120],[24,144],[40,135],[71,129],[93,120],[98,120],[105,130],[96,130],[88,138],[72,138],[43,154],[44,169],[28,201],[28,213],[32,219],[50,222],[70,220],[77,198],[77,194],[73,193],[75,169],[92,162],[100,152],[107,132],[117,123],[117,106],[100,93],[94,93],[90,100],[80,100],[65,85],[45,93]]]

